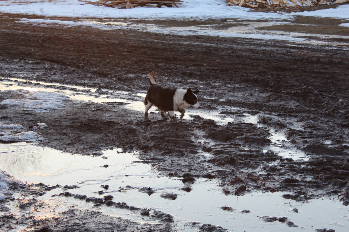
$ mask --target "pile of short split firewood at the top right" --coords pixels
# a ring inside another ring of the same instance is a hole
[[[257,7],[297,7],[331,5],[335,3],[349,2],[349,0],[225,0],[227,5],[242,6],[248,8]]]

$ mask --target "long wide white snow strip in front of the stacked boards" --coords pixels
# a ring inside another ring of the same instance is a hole
[[[135,7],[134,9],[117,9],[81,5],[82,2],[38,2],[13,5],[11,0],[0,1],[0,12],[46,17],[70,18],[137,18],[137,19],[221,19],[238,18],[251,20],[280,20],[291,16],[277,13],[252,12],[250,9],[225,5],[224,0],[190,0],[177,7]]]

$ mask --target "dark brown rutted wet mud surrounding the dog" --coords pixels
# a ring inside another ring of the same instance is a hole
[[[1,105],[3,124],[48,125],[38,145],[83,155],[113,147],[140,151],[163,175],[183,177],[186,190],[197,177],[217,178],[225,194],[290,191],[285,198],[327,195],[349,204],[347,50],[13,23],[20,18],[0,16],[2,79],[146,93],[147,74],[155,71],[162,86],[199,89],[203,109],[235,118],[222,126],[190,109],[193,120],[178,124],[160,120],[155,110],[144,120],[142,112],[117,102],[66,100],[65,107],[45,114]],[[0,102],[8,98],[21,96],[0,92]],[[261,126],[243,122],[244,114],[258,115]],[[309,160],[265,152],[271,130],[282,131],[291,142],[287,146],[304,151]]]

